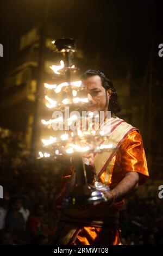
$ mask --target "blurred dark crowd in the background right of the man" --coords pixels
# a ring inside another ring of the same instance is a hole
[[[127,199],[121,212],[122,243],[124,245],[161,245],[163,243],[163,205],[161,200]]]

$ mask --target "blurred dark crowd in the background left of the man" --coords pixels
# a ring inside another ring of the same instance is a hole
[[[2,245],[47,245],[58,220],[58,212],[44,202],[32,202],[28,196],[9,196],[0,201]]]

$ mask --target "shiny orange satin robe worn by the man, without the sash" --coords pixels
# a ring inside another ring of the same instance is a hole
[[[98,177],[99,182],[104,183],[111,189],[120,183],[127,172],[139,173],[140,185],[149,176],[142,138],[136,130],[127,135],[111,161],[112,175],[111,180],[108,179],[108,184],[106,184],[107,168]],[[85,206],[80,208],[77,206],[77,209],[62,209],[61,200],[64,197],[67,183],[71,180],[72,173],[73,168],[66,169],[62,177],[61,190],[56,202],[57,209],[62,211],[61,215],[64,218],[66,216],[65,220],[68,223],[62,229],[62,233],[66,236],[67,230],[76,223],[77,228],[74,232],[70,233],[69,237],[67,236],[67,243],[71,245],[119,245],[121,240],[120,229],[118,228],[118,212],[122,209],[124,200],[102,209],[98,205],[96,207]],[[102,226],[98,226],[98,220],[103,221]],[[93,221],[96,224],[93,224]]]

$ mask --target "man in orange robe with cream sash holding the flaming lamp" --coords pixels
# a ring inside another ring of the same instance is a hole
[[[111,191],[102,191],[108,199],[105,203],[62,209],[67,187],[74,186],[74,170],[68,167],[56,202],[61,210],[61,220],[55,238],[60,245],[120,245],[119,211],[124,198],[148,177],[145,151],[139,131],[115,115],[121,111],[121,105],[110,78],[99,70],[87,70],[82,81],[92,101],[88,110],[104,111],[105,116],[106,111],[111,111],[108,141],[114,139],[116,151],[96,154],[94,159],[87,156],[90,165],[96,169],[98,181]]]

